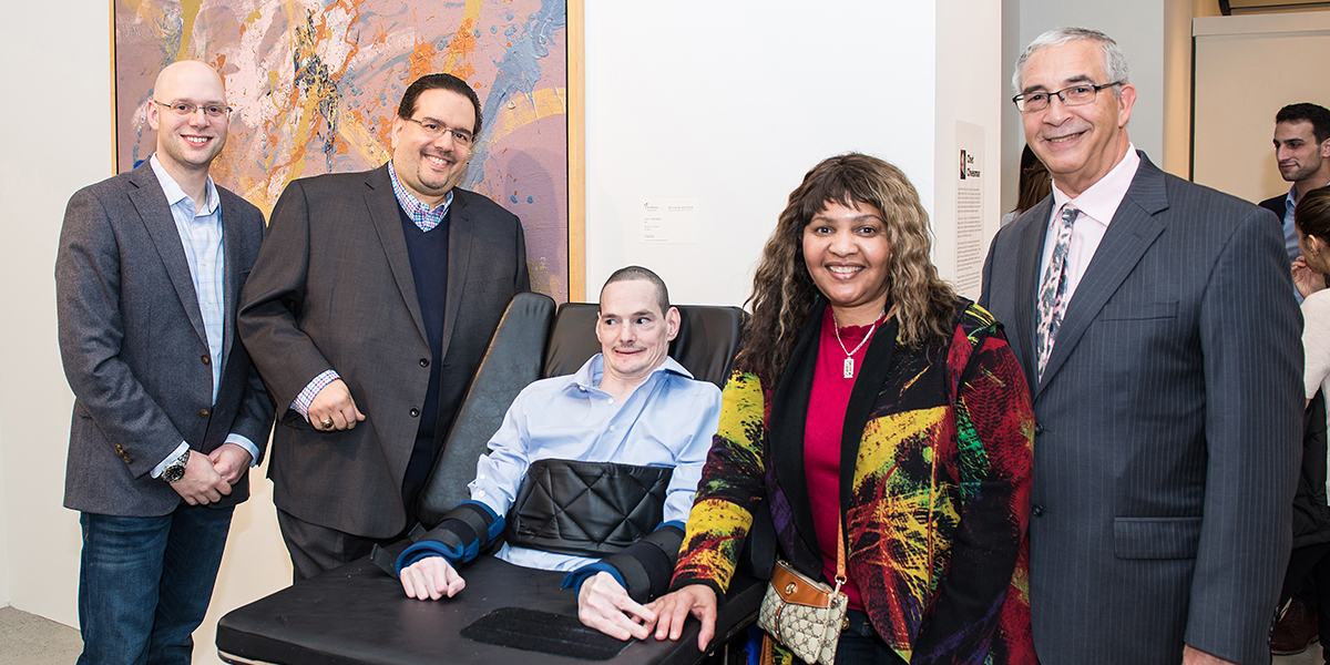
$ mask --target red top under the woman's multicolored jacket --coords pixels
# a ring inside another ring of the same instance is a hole
[[[813,527],[822,549],[822,573],[835,585],[837,524],[841,519],[841,430],[845,410],[850,404],[854,379],[845,378],[846,351],[854,351],[854,375],[858,376],[868,343],[859,346],[868,331],[876,327],[846,326],[837,342],[831,307],[822,317],[822,335],[818,342],[818,364],[813,372],[813,392],[809,395],[809,418],[803,428],[803,466],[809,476],[809,503],[813,508]],[[878,327],[882,319],[878,319]],[[841,348],[845,344],[845,350]],[[859,346],[855,351],[854,347]],[[841,591],[850,598],[850,609],[863,609],[859,587],[849,579]]]

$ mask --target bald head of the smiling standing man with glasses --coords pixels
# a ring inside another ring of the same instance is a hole
[[[210,114],[209,112],[214,113]],[[197,60],[169,65],[157,74],[148,124],[157,130],[157,160],[181,186],[202,186],[207,169],[226,145],[230,109],[222,77]]]

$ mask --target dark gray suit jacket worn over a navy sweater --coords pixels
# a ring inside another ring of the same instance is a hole
[[[387,165],[297,180],[273,209],[242,297],[239,331],[278,408],[273,499],[287,513],[364,537],[406,527],[402,479],[434,363],[439,436],[513,294],[531,287],[521,223],[454,189],[443,358],[432,358]],[[323,432],[287,407],[336,370],[366,420]]]

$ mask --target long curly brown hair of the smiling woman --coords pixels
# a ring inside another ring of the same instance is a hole
[[[753,275],[753,322],[737,364],[765,380],[779,379],[818,298],[803,261],[803,229],[827,203],[867,203],[882,211],[891,246],[887,295],[900,321],[899,340],[922,344],[947,338],[955,291],[928,259],[928,213],[900,169],[859,153],[823,160],[790,193],[790,202],[762,247]]]

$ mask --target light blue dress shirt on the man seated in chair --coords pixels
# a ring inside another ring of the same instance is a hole
[[[476,463],[476,479],[467,485],[471,499],[505,515],[527,468],[543,459],[674,467],[664,521],[686,520],[720,426],[720,388],[694,380],[666,356],[620,404],[596,387],[604,371],[604,359],[596,354],[576,374],[527,386],[489,439],[489,454]],[[547,571],[573,571],[597,561],[508,544],[496,556]]]

